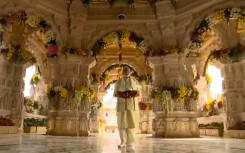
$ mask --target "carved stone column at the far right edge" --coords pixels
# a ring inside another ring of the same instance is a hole
[[[226,64],[221,70],[224,77],[224,135],[228,136],[228,130],[245,119],[245,62]]]

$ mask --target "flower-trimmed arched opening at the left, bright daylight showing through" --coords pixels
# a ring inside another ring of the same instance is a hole
[[[30,126],[30,123],[36,124],[37,119],[47,118],[48,105],[46,100],[47,84],[40,81],[42,80],[40,76],[46,77],[46,75],[41,75],[39,68],[27,67],[34,65],[34,63],[41,68],[45,65],[47,67],[47,59],[58,55],[58,45],[51,26],[44,19],[27,14],[25,11],[2,16],[0,28],[1,55],[5,59],[5,64],[11,67],[9,72],[6,72],[6,77],[15,74],[13,80],[9,82],[16,84],[11,87],[14,89],[13,98],[8,96],[7,99],[9,101],[13,99],[12,103],[14,104],[12,105],[16,105],[14,107],[18,111],[25,111],[21,114],[20,121],[16,122],[16,126],[23,130],[25,129],[22,124],[23,120],[25,126],[27,125],[26,119],[33,118],[27,121]],[[49,71],[48,73],[52,71],[52,69],[46,70]],[[45,71],[42,72],[45,73]],[[23,82],[23,78],[25,78],[25,82]],[[31,86],[30,82],[32,82]],[[26,88],[24,93],[19,86]],[[13,116],[14,120],[19,120],[18,118],[18,116]],[[45,125],[43,122],[43,126]],[[42,132],[46,132],[46,128],[44,130]]]

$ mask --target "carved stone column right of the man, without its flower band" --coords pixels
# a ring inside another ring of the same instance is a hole
[[[183,60],[182,55],[167,55],[165,57],[149,58],[153,67],[154,88],[168,87],[175,90],[182,86],[191,87],[191,65],[195,59]],[[156,77],[157,76],[157,77]],[[177,91],[176,91],[177,92]],[[169,105],[163,105],[166,101],[154,99],[155,118],[153,131],[155,137],[198,137],[199,130],[196,120],[196,101],[189,100],[187,103],[179,99],[170,99]],[[167,111],[170,110],[170,111]]]

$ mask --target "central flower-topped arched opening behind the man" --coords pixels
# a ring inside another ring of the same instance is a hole
[[[142,37],[126,30],[117,30],[103,35],[93,46],[92,52],[96,56],[97,63],[90,69],[90,84],[98,87],[98,99],[103,102],[103,107],[98,110],[97,121],[105,121],[100,122],[98,128],[104,129],[105,132],[116,132],[114,83],[122,77],[122,67],[128,66],[132,72],[131,76],[140,82],[142,90],[146,89],[145,86],[150,86],[152,83],[152,69],[148,65],[147,57],[153,51]],[[137,62],[135,62],[135,59]],[[139,102],[147,103],[147,97],[148,93],[144,91]],[[147,116],[146,113],[142,112],[149,111],[149,109],[140,111],[139,116],[148,118],[149,115]],[[142,123],[139,124],[142,125]],[[137,127],[138,133],[141,132],[140,125]],[[144,132],[147,133],[148,131]]]

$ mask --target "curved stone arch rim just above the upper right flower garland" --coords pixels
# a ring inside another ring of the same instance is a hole
[[[219,2],[216,3],[215,5],[212,5],[212,7],[209,7],[205,10],[202,10],[200,12],[195,12],[196,14],[193,15],[193,20],[189,24],[187,30],[186,30],[186,37],[185,40],[183,41],[183,46],[188,47],[190,40],[191,40],[191,35],[193,33],[193,30],[197,28],[197,26],[210,14],[212,14],[215,10],[218,9],[224,9],[224,8],[239,8],[245,5],[244,1],[239,1],[239,2],[234,2],[234,1],[225,1],[225,2]],[[212,12],[212,13],[210,13]],[[187,49],[186,52],[189,50]]]

